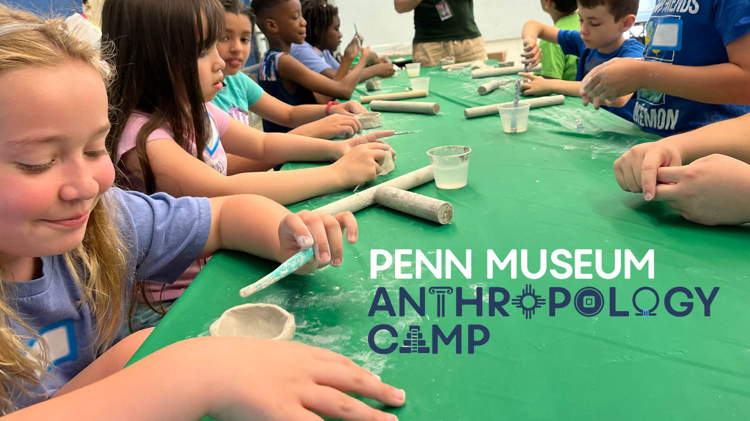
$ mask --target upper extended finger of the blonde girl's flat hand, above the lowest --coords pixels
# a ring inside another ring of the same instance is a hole
[[[383,383],[362,367],[347,367],[341,364],[329,364],[314,375],[314,381],[335,387],[345,393],[356,393],[365,398],[376,399],[386,405],[404,405],[404,390]]]

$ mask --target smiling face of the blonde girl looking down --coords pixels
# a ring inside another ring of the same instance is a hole
[[[0,91],[0,264],[71,251],[115,179],[104,82],[66,61],[2,73]]]

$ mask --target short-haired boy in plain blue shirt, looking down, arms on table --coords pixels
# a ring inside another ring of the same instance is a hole
[[[565,94],[569,97],[580,97],[580,81],[598,64],[616,57],[643,57],[643,44],[637,40],[625,40],[622,37],[635,22],[638,11],[638,0],[578,0],[580,31],[565,31],[535,20],[523,25],[523,64],[533,67],[541,59],[536,38],[558,43],[565,54],[579,57],[575,81],[544,79],[532,73],[519,73],[529,79],[521,85],[523,95],[538,96],[547,94]],[[625,118],[633,120],[635,101],[631,94],[607,101],[604,108]]]

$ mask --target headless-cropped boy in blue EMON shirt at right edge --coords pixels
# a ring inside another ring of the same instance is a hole
[[[602,100],[637,92],[641,129],[669,136],[750,112],[750,1],[657,1],[644,61],[596,67],[580,94]],[[742,105],[723,105],[742,104]]]

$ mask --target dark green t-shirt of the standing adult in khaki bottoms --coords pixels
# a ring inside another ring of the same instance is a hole
[[[423,0],[414,9],[414,43],[468,40],[481,37],[474,22],[474,0],[445,0],[450,13],[441,20],[437,5],[443,0]],[[441,7],[440,10],[445,10]],[[445,12],[443,12],[445,13]]]

